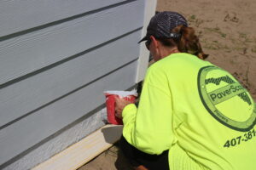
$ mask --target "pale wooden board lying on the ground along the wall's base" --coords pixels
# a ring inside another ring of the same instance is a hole
[[[75,170],[108,150],[121,137],[123,126],[106,125],[32,170]]]

